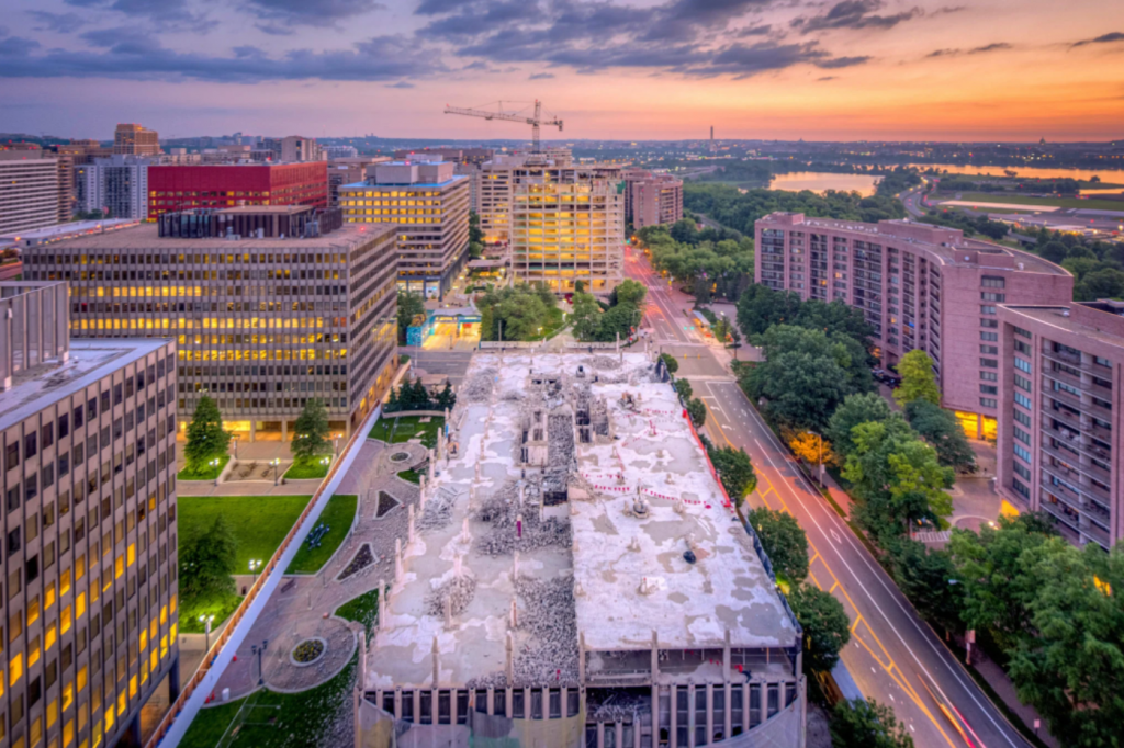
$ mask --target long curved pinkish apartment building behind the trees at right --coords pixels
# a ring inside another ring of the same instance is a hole
[[[1068,303],[1073,277],[1018,249],[927,224],[771,213],[756,222],[755,280],[863,310],[883,365],[932,356],[942,404],[971,437],[995,436],[1003,303]]]

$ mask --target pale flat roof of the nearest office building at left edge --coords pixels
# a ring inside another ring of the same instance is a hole
[[[115,338],[72,340],[67,361],[55,359],[12,376],[11,387],[0,392],[0,430],[19,423],[51,403],[81,392],[110,372],[157,350],[169,340]]]

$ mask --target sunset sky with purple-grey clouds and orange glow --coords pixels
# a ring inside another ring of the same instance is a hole
[[[6,0],[0,131],[1124,138],[1122,0]],[[523,104],[506,104],[519,108]]]

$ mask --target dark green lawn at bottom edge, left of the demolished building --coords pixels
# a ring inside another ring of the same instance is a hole
[[[273,693],[262,688],[246,699],[203,709],[191,722],[180,746],[217,748],[224,736],[224,748],[320,746],[339,705],[351,699],[357,663],[357,655],[353,656],[338,675],[309,691]]]

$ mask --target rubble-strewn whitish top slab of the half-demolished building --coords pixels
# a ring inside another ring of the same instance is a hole
[[[528,430],[544,413],[545,428]],[[575,444],[586,417],[600,430]],[[526,446],[531,431],[540,446]],[[799,645],[645,354],[478,354],[450,434],[457,454],[437,460],[415,539],[404,541],[366,688],[432,684],[434,647],[441,683],[505,685],[509,635],[517,686],[574,685],[582,641],[587,682],[617,677],[629,654],[647,671],[653,632],[664,650],[720,649],[727,636],[735,648]],[[542,466],[527,449],[541,450]],[[661,678],[707,667],[704,658]]]

